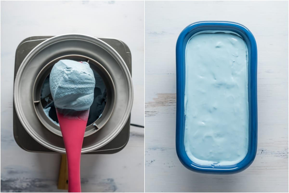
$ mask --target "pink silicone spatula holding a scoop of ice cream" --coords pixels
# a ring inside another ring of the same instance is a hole
[[[89,109],[66,113],[56,108],[68,165],[68,192],[81,192],[80,155]]]

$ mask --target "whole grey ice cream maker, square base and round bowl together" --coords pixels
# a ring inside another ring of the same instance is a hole
[[[55,63],[86,61],[106,88],[101,117],[86,126],[81,153],[114,153],[129,138],[133,102],[131,54],[116,38],[83,34],[33,36],[16,49],[13,130],[17,144],[34,152],[65,153],[60,127],[47,117],[40,93]]]

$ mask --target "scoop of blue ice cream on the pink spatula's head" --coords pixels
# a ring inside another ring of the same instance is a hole
[[[49,84],[57,108],[82,111],[93,102],[95,78],[87,62],[60,60],[51,70]]]

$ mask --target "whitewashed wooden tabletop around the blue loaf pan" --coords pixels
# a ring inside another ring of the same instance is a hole
[[[175,150],[175,45],[196,21],[248,27],[258,49],[258,149],[238,174],[199,174]],[[145,2],[145,191],[288,192],[288,1]]]

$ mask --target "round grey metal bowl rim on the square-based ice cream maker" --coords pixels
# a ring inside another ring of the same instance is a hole
[[[46,148],[65,153],[62,137],[51,133],[38,119],[32,93],[34,81],[42,68],[53,59],[66,55],[96,60],[108,71],[115,84],[114,111],[99,132],[84,138],[82,153],[86,153],[105,146],[121,132],[132,106],[133,89],[129,69],[123,58],[104,41],[81,34],[66,34],[40,43],[29,52],[18,69],[14,83],[14,107],[31,137]]]

